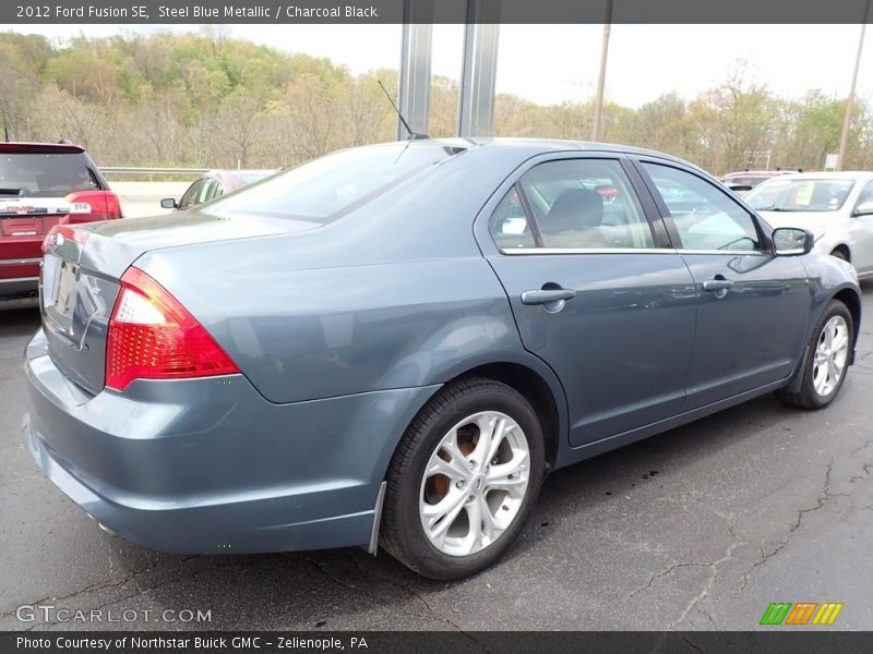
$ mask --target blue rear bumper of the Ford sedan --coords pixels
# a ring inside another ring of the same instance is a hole
[[[435,390],[273,404],[230,375],[89,396],[41,331],[25,366],[39,468],[108,530],[186,554],[368,544],[396,441]]]

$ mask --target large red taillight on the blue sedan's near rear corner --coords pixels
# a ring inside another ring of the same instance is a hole
[[[139,268],[121,277],[109,319],[106,386],[239,373],[237,364],[176,298]]]

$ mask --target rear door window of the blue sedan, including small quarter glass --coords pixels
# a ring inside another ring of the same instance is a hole
[[[614,159],[535,166],[503,198],[489,228],[501,250],[654,247],[639,199]]]

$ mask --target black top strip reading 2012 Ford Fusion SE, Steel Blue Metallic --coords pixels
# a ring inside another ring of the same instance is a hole
[[[433,23],[465,23],[467,0],[432,2]],[[477,0],[502,24],[600,24],[609,0]],[[612,0],[612,23],[860,24],[869,0]],[[162,9],[163,8],[163,9]],[[866,22],[870,17],[866,19]],[[4,0],[0,22],[23,24],[396,24],[404,0]]]

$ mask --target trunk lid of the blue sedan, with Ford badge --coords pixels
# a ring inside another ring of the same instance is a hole
[[[287,218],[199,213],[59,227],[48,238],[39,283],[52,361],[91,395],[103,390],[107,330],[119,279],[144,253],[316,227]]]

